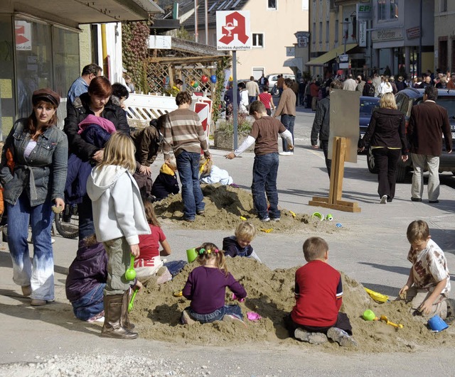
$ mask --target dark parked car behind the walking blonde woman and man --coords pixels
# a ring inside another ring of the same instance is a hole
[[[412,106],[420,104],[423,101],[424,89],[407,88],[401,90],[395,94],[395,100],[397,102],[397,108],[406,118],[407,122],[410,119]],[[454,89],[438,89],[438,99],[436,101],[439,106],[443,106],[449,113],[450,128],[452,133],[452,143],[455,138],[455,90]],[[444,136],[443,136],[444,137]],[[378,173],[378,169],[375,166],[375,158],[373,157],[373,151],[368,148],[367,158],[368,170],[371,173]],[[400,159],[397,165],[397,182],[404,182],[408,171],[412,170],[412,160],[407,159],[406,163],[403,163]],[[439,173],[451,172],[455,175],[455,153],[445,153],[445,143],[442,143],[442,154],[439,158]]]

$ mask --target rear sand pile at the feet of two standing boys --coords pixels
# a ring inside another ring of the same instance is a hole
[[[319,229],[326,233],[338,231],[334,222],[312,219],[311,214],[295,214],[282,209],[281,221],[264,224],[259,221],[253,209],[250,191],[225,185],[201,185],[205,214],[196,216],[195,222],[183,222],[183,204],[181,194],[172,195],[155,204],[156,215],[161,219],[169,219],[174,224],[191,229],[235,229],[240,217],[245,217],[255,224],[257,229],[270,229],[274,232],[295,232],[298,229]]]

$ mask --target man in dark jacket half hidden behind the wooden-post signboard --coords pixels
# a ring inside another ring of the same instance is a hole
[[[343,89],[343,84],[338,80],[333,80],[331,82],[327,97],[318,102],[313,128],[311,129],[311,146],[314,149],[322,149],[324,158],[326,158],[326,167],[329,178],[332,161],[328,159],[328,131],[330,130],[330,93],[333,89]],[[318,146],[318,137],[320,146]]]

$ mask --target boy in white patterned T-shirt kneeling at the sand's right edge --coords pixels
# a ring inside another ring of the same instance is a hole
[[[444,252],[431,239],[428,224],[412,222],[406,231],[411,248],[407,260],[412,263],[410,276],[400,290],[400,298],[411,302],[411,312],[425,320],[447,316],[450,275]]]

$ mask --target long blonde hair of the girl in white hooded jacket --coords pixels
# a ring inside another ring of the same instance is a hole
[[[126,133],[114,132],[106,143],[105,153],[98,167],[118,165],[133,174],[136,170],[135,152],[134,143]]]

